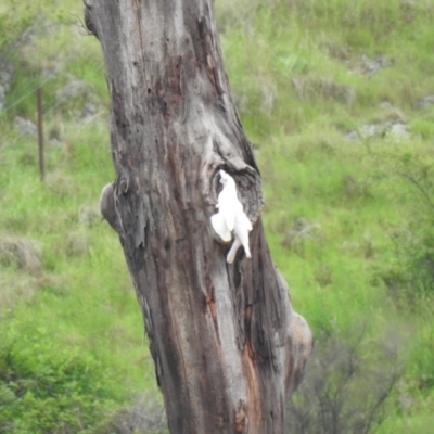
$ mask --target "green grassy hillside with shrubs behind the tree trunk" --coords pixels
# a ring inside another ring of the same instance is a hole
[[[267,239],[317,339],[289,432],[430,433],[434,1],[216,9]],[[79,1],[0,4],[0,431],[163,432],[123,252],[100,221],[108,100],[75,15]]]

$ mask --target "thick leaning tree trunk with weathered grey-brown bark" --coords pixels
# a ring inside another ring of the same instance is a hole
[[[311,350],[265,240],[263,193],[225,73],[212,0],[87,0],[111,94],[118,232],[171,433],[283,433]],[[210,225],[219,169],[237,181],[252,258]]]

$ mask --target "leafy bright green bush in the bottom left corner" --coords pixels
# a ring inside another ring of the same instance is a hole
[[[0,432],[100,432],[118,397],[99,362],[44,333],[14,334],[0,344]]]

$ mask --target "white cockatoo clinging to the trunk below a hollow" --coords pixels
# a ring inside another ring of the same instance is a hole
[[[241,245],[244,247],[245,256],[251,257],[248,232],[252,230],[252,224],[238,199],[233,178],[225,170],[220,170],[220,182],[224,189],[218,195],[216,205],[218,213],[210,217],[210,222],[221,240],[231,241],[233,234],[233,244],[226,258],[227,263],[232,264]]]

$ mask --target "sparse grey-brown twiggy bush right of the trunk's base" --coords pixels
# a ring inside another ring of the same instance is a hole
[[[306,378],[289,406],[286,429],[296,434],[368,434],[383,421],[398,378],[397,348],[376,347],[365,332],[354,342],[337,334],[317,343]]]

